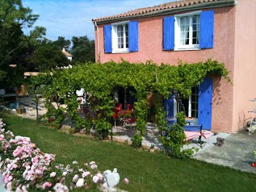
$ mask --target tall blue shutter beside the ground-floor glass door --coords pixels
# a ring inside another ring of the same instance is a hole
[[[199,85],[198,123],[203,129],[212,129],[212,78],[205,78]]]

